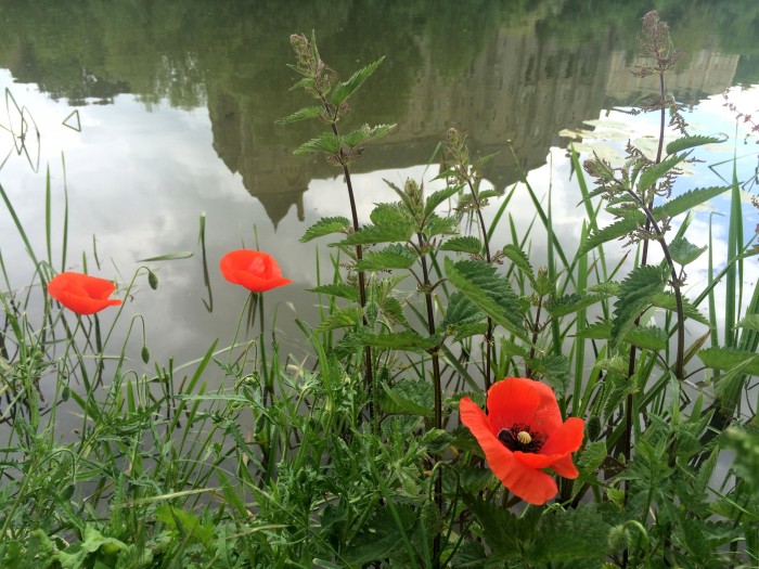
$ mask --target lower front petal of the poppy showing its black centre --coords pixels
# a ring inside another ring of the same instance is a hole
[[[469,398],[460,401],[459,414],[483,448],[490,469],[512,493],[535,505],[556,495],[553,478],[516,460],[493,435],[488,416]]]

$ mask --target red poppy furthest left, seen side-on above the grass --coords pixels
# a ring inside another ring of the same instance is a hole
[[[104,308],[121,303],[108,298],[116,285],[105,279],[81,273],[61,273],[48,283],[48,294],[77,314],[94,314]]]

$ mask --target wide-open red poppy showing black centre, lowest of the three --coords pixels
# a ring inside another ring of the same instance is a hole
[[[584,421],[562,422],[549,386],[524,377],[506,377],[488,391],[488,414],[468,397],[459,403],[461,422],[485,451],[490,469],[512,493],[530,504],[544,504],[558,492],[552,468],[577,478],[571,453],[582,443]]]

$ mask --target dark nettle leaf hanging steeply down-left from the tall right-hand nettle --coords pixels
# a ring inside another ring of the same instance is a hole
[[[652,299],[664,293],[665,285],[666,280],[661,268],[654,264],[633,269],[622,281],[619,296],[614,305],[614,324],[612,326],[612,345],[614,347],[632,327],[634,320],[652,303]]]

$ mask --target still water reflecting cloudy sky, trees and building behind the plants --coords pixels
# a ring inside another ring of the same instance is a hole
[[[652,9],[670,23],[685,52],[668,87],[689,105],[694,131],[735,137],[734,113],[721,93],[733,87],[731,101],[757,115],[755,0],[125,0],[107,8],[83,0],[0,1],[0,88],[8,90],[0,124],[14,130],[24,116],[39,132],[38,141],[34,129],[27,137],[28,155],[17,155],[13,137],[0,132],[0,160],[8,157],[0,183],[38,251],[44,249],[46,170],[53,235],[63,231],[67,189],[66,269],[80,271],[87,262],[90,273],[120,285],[140,266],[156,272],[158,289],[142,279],[125,309],[127,318],[145,315],[155,361],[190,361],[216,338],[220,346],[231,341],[247,293],[224,282],[217,266],[242,246],[270,253],[293,280],[267,293],[265,318],[270,325],[275,314],[283,351],[297,350],[304,339],[294,318],[317,319],[316,297],[305,289],[317,282],[318,255],[312,243],[298,240],[321,217],[346,216],[348,208],[336,169],[292,154],[319,127],[274,122],[310,104],[288,90],[296,80],[287,67],[291,34],[313,29],[322,57],[344,78],[386,56],[348,117],[350,125],[398,125],[355,165],[362,219],[374,203],[393,199],[383,179],[434,178],[435,150],[455,127],[468,135],[473,154],[497,153],[484,172],[497,190],[511,189],[522,170],[539,195],[551,187],[555,231],[571,243],[584,212],[566,158],[571,132],[584,129],[579,150],[619,156],[629,138],[645,144],[656,133],[654,117],[614,111],[657,88],[629,73],[643,63],[638,30]],[[722,183],[732,165],[720,163],[736,147],[742,180],[750,180],[757,148],[744,145],[744,133],[737,144],[707,148],[705,165],[683,187]],[[756,193],[750,183],[746,191]],[[515,195],[518,207],[510,214],[524,229],[535,211],[523,187]],[[750,229],[756,214],[747,210]],[[198,243],[202,216],[209,287]],[[697,220],[700,235],[689,238],[700,244],[705,223]],[[717,258],[724,258],[723,233],[717,230]],[[0,240],[11,287],[22,289],[34,268],[4,207]],[[56,270],[63,270],[60,248],[53,244]],[[319,248],[329,275],[325,244]],[[542,250],[537,232],[533,266],[543,262]],[[166,254],[185,258],[139,262]],[[755,266],[746,269],[750,283]],[[692,277],[699,279],[697,270]],[[111,349],[120,351],[120,344]],[[139,358],[133,365],[140,368]]]

